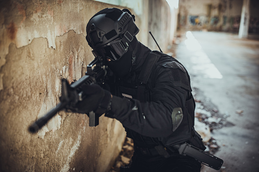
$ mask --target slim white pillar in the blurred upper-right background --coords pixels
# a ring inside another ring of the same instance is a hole
[[[249,26],[249,5],[250,0],[243,1],[242,14],[239,26],[239,38],[247,38],[248,37],[248,26]]]

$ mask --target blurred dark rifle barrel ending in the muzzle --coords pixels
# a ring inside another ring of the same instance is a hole
[[[36,133],[39,129],[41,129],[43,127],[43,125],[45,125],[48,120],[50,120],[57,112],[61,111],[63,108],[65,108],[67,105],[66,102],[60,102],[59,104],[57,104],[57,106],[55,108],[53,108],[52,110],[50,110],[46,115],[44,115],[43,117],[41,117],[40,119],[38,119],[36,122],[34,122],[29,128],[28,130],[32,133]]]

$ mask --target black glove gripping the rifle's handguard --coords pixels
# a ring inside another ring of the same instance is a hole
[[[83,88],[85,98],[76,104],[78,113],[87,114],[94,111],[101,116],[109,111],[111,105],[111,94],[97,84],[87,85]]]

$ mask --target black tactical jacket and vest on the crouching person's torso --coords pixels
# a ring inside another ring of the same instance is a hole
[[[189,140],[195,102],[187,71],[175,58],[151,51],[141,43],[137,46],[131,75],[110,84],[112,104],[105,116],[119,120],[127,136],[140,147],[167,147]],[[183,120],[173,132],[174,108],[182,108]]]

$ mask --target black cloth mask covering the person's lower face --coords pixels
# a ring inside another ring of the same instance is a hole
[[[107,62],[107,66],[110,70],[119,77],[129,74],[131,65],[132,53],[129,50],[119,60]]]

